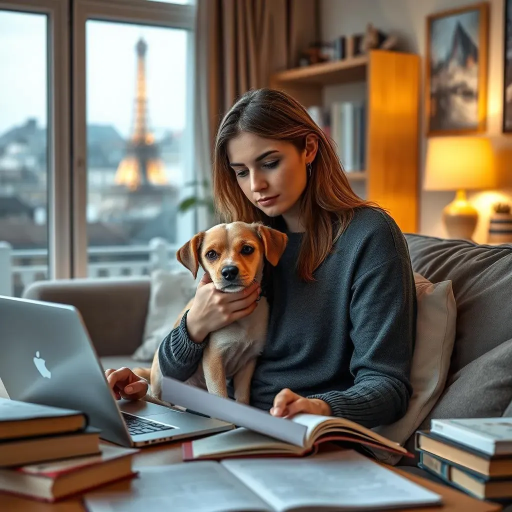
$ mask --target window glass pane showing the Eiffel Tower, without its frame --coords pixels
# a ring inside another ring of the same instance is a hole
[[[158,240],[178,243],[187,54],[183,29],[87,22],[90,276],[146,273]]]

